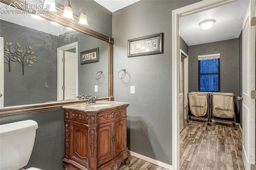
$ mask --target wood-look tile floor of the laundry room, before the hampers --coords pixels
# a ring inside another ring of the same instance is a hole
[[[237,126],[238,127],[238,126]],[[244,170],[242,132],[233,125],[184,119],[180,133],[181,170]]]

